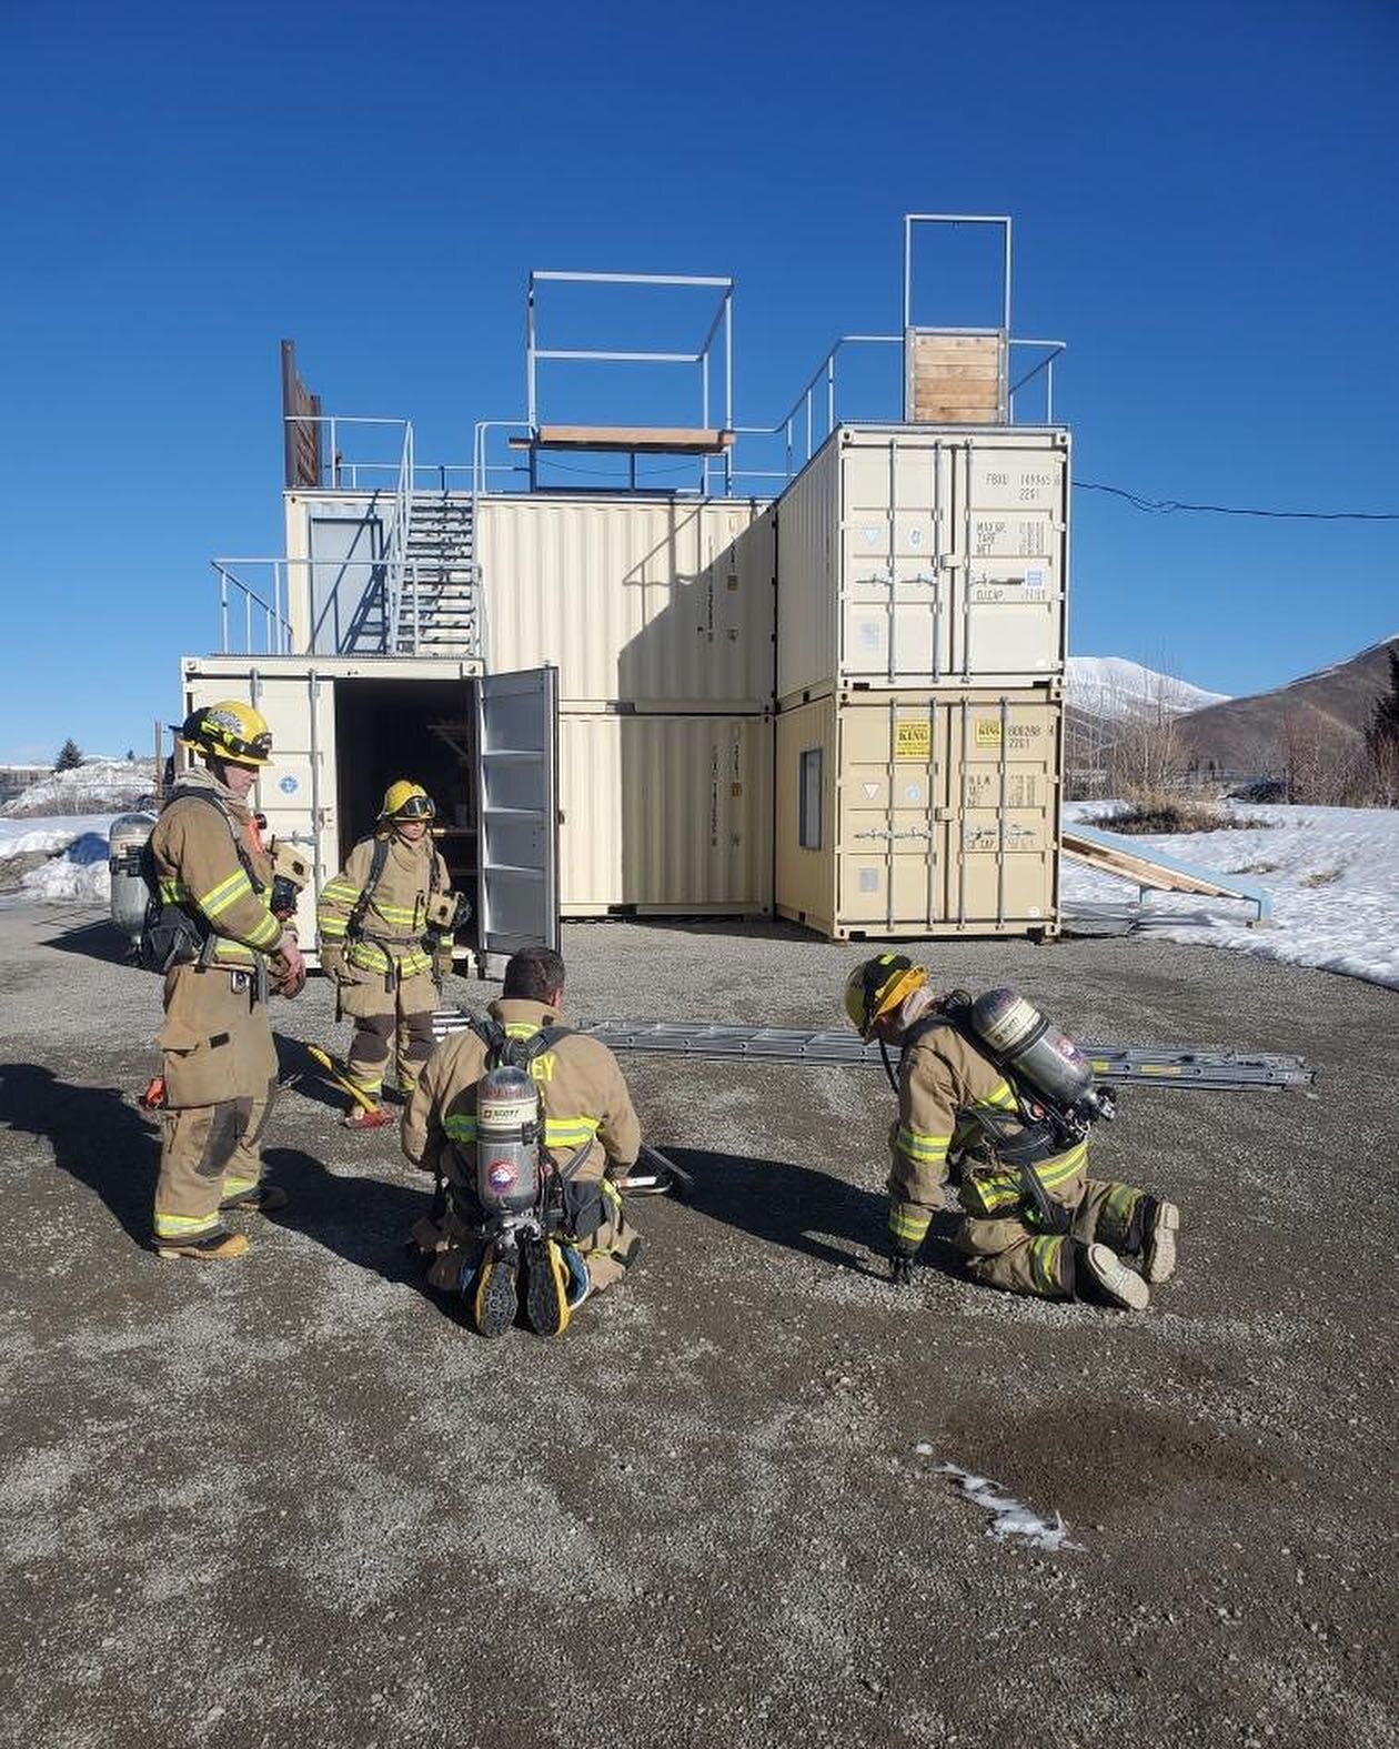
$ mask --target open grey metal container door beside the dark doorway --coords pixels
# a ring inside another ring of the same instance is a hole
[[[518,948],[558,950],[558,670],[472,680],[477,950],[500,978]]]

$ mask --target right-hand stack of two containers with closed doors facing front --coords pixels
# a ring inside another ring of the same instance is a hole
[[[776,507],[776,909],[1054,934],[1068,434],[841,427]]]

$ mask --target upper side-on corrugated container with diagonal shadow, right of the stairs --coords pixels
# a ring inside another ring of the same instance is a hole
[[[773,521],[755,500],[483,497],[486,661],[637,710],[773,700]]]

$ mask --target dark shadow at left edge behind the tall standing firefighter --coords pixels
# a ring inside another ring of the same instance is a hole
[[[0,1063],[0,1121],[51,1142],[56,1165],[86,1184],[135,1244],[150,1242],[161,1139],[121,1088],[72,1086],[38,1063]]]

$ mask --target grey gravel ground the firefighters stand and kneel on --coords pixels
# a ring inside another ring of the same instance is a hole
[[[581,1016],[787,1025],[860,957],[722,925],[565,953]],[[561,1341],[418,1289],[421,1181],[310,1074],[290,1207],[241,1263],[161,1263],[156,983],[91,913],[0,909],[0,1742],[1399,1742],[1394,993],[1142,939],[929,958],[1084,1037],[1320,1069],[1124,1095],[1098,1170],[1184,1209],[1144,1315],[976,1287],[946,1244],[895,1298],[892,1100],[834,1069],[633,1060],[698,1193],[640,1205],[642,1265]],[[276,1020],[289,1077],[334,1035],[318,979]],[[1079,1548],[993,1539],[939,1462]]]

